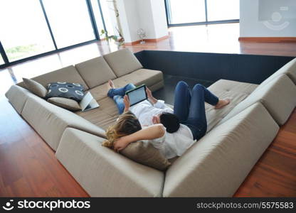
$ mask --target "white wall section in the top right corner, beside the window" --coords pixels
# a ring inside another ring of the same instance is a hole
[[[240,37],[296,37],[296,0],[240,0]]]

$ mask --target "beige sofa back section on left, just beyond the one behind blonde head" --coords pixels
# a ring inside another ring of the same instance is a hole
[[[105,131],[99,126],[40,97],[28,97],[21,115],[55,151],[67,127],[105,137]]]

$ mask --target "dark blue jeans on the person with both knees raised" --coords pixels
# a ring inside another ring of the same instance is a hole
[[[175,89],[174,114],[181,124],[191,129],[194,140],[199,140],[206,134],[206,109],[204,102],[215,106],[218,97],[201,84],[196,84],[190,91],[186,82],[178,82]]]

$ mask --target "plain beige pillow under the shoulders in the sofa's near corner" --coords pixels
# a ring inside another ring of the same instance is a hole
[[[157,170],[166,170],[171,165],[169,160],[164,158],[164,155],[157,148],[151,143],[145,143],[143,141],[129,143],[129,146],[120,151],[120,153],[137,163],[148,165]]]

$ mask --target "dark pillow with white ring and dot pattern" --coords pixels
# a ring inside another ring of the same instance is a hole
[[[51,97],[63,97],[80,102],[84,96],[84,87],[77,83],[53,82],[47,85],[46,99]]]

